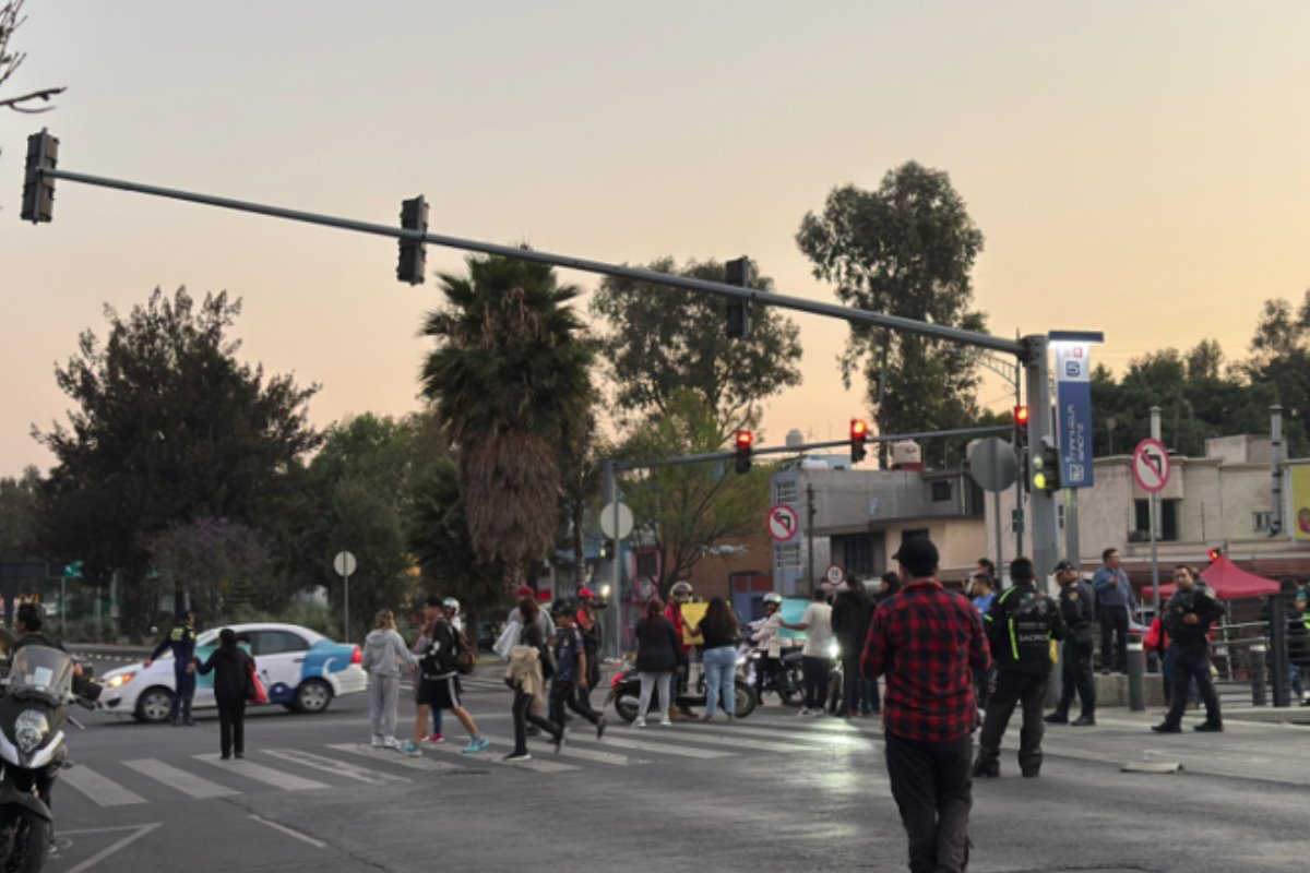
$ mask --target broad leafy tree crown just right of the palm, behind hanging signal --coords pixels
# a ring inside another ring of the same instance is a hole
[[[663,258],[655,272],[724,281],[717,260],[679,267]],[[772,291],[773,281],[751,264],[751,285]],[[800,385],[800,331],[770,306],[753,306],[748,339],[726,332],[724,302],[710,294],[608,277],[591,301],[592,314],[609,323],[601,359],[609,363],[618,408],[630,414],[667,414],[673,395],[694,391],[713,410],[720,437],[758,412],[778,391]]]

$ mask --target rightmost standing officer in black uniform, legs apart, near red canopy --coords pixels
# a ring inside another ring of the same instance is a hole
[[[1214,599],[1214,594],[1199,590],[1196,573],[1191,567],[1179,564],[1174,568],[1174,594],[1165,605],[1162,622],[1169,633],[1170,669],[1169,685],[1174,688],[1169,715],[1165,721],[1151,725],[1155,733],[1180,733],[1183,730],[1183,709],[1187,695],[1183,688],[1192,679],[1205,702],[1205,722],[1196,725],[1197,730],[1224,730],[1224,717],[1220,715],[1220,699],[1210,683],[1210,624],[1224,618],[1227,610]]]

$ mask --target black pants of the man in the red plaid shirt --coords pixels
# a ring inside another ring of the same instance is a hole
[[[973,738],[886,738],[887,776],[909,835],[910,873],[963,873],[969,863]]]

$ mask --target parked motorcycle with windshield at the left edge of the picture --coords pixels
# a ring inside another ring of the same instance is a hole
[[[0,870],[37,873],[54,838],[50,791],[68,764],[64,726],[77,724],[68,704],[96,707],[100,686],[73,692],[73,658],[28,645],[9,664],[0,696]]]

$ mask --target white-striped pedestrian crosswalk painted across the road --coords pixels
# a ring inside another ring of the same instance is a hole
[[[558,754],[549,741],[533,741],[529,760],[507,762],[512,738],[489,734],[491,746],[465,755],[457,742],[424,745],[423,757],[407,758],[390,749],[363,743],[322,743],[270,747],[244,759],[221,760],[216,754],[176,760],[132,758],[75,764],[60,785],[96,808],[138,806],[178,800],[221,800],[257,792],[313,792],[362,785],[385,789],[421,783],[456,771],[517,770],[545,776],[584,771],[616,771],[643,766],[689,766],[734,762],[752,755],[872,754],[880,745],[876,722],[848,725],[832,719],[755,719],[734,725],[685,722],[671,728],[637,729],[613,725],[597,739],[588,725],[571,730]]]

